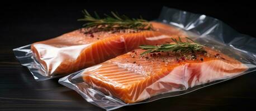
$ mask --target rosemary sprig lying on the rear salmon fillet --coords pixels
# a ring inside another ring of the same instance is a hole
[[[112,16],[105,14],[105,18],[100,18],[96,12],[94,12],[95,17],[91,16],[85,9],[82,12],[84,13],[84,18],[78,19],[78,21],[86,21],[87,23],[83,24],[83,26],[94,29],[94,32],[110,31],[113,29],[153,29],[152,25],[142,18],[129,18],[125,15],[120,16],[114,12],[111,12]]]

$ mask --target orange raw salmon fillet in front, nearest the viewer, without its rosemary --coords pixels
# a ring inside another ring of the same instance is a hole
[[[186,56],[151,53],[141,57],[144,50],[136,49],[85,69],[82,77],[107,95],[135,103],[157,94],[234,77],[248,69],[225,54],[211,48],[206,51]]]

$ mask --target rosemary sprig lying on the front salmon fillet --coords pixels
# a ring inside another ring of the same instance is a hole
[[[162,44],[160,46],[149,46],[149,45],[142,45],[140,48],[146,50],[145,52],[141,53],[140,55],[143,56],[146,53],[154,53],[154,52],[176,52],[176,53],[186,53],[186,52],[203,52],[205,53],[205,46],[196,43],[192,39],[187,38],[186,42],[183,42],[181,38],[179,39],[172,39],[174,44]],[[190,42],[189,42],[190,41]]]

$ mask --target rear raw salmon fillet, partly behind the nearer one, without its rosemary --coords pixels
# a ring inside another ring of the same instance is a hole
[[[97,32],[84,34],[83,29],[31,45],[45,75],[61,75],[105,62],[139,47],[141,44],[161,44],[170,37],[185,37],[178,28],[151,22],[153,31]]]

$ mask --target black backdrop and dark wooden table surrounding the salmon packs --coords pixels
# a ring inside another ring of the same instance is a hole
[[[256,37],[255,3],[205,2],[15,2],[1,3],[0,110],[102,110],[79,94],[58,84],[58,79],[35,82],[13,56],[12,49],[78,29],[82,9],[100,15],[116,11],[129,17],[156,19],[163,6],[206,14],[236,31]],[[205,4],[202,4],[205,3]],[[256,73],[215,84],[179,97],[132,105],[117,110],[253,110]]]

